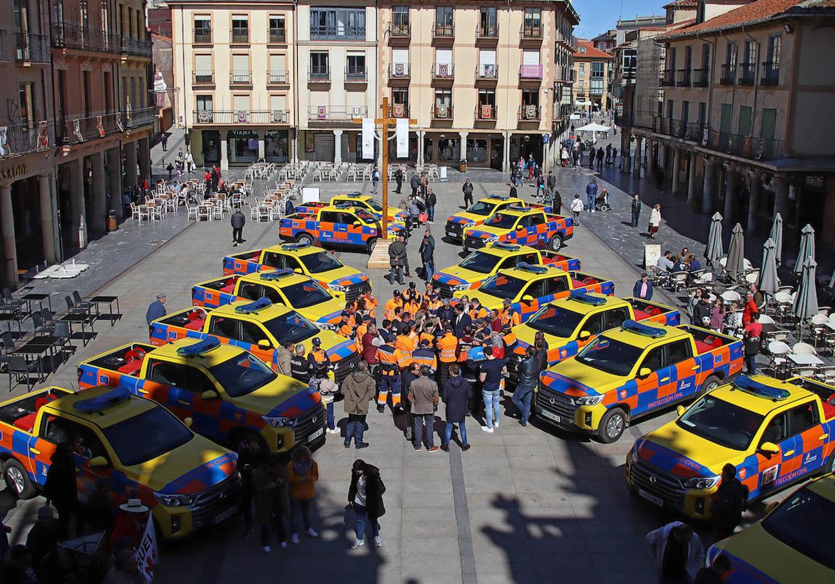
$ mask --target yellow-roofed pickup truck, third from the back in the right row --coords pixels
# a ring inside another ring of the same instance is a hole
[[[579,258],[558,254],[549,249],[534,249],[527,245],[496,242],[477,249],[456,265],[448,266],[432,277],[432,283],[442,298],[452,298],[454,292],[475,289],[501,269],[517,264],[547,265],[552,268],[579,269]]]

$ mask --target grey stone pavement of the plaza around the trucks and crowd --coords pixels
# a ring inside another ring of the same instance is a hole
[[[482,179],[477,195],[506,191],[498,174],[485,173]],[[564,180],[562,174],[560,179]],[[436,264],[443,268],[460,259],[458,248],[441,243],[439,235],[443,220],[458,210],[463,198],[459,182],[432,186],[439,200],[434,226]],[[324,197],[337,191],[367,191],[368,185],[323,184],[321,188]],[[569,187],[561,184],[560,190],[565,194]],[[524,196],[529,198],[527,193]],[[132,229],[131,222],[125,229],[125,233]],[[98,284],[99,293],[119,295],[125,317],[113,328],[99,327],[99,336],[87,347],[79,347],[48,384],[73,387],[79,360],[119,344],[145,340],[144,311],[160,290],[168,295],[170,311],[190,305],[191,285],[220,274],[221,258],[241,249],[231,246],[229,229],[225,222],[190,224],[153,253],[134,259],[132,267],[120,274],[115,267],[97,269],[112,278]],[[246,248],[275,244],[277,231],[276,223],[248,222]],[[408,244],[412,265],[416,264],[418,239],[413,237]],[[105,238],[103,244],[108,241]],[[577,229],[565,252],[579,255],[583,269],[614,279],[621,295],[629,294],[637,270],[585,226]],[[338,255],[360,269],[367,260],[361,253]],[[129,261],[120,257],[113,254],[117,261]],[[369,275],[375,294],[385,301],[392,291],[385,271]],[[13,392],[21,393],[19,386]],[[337,419],[342,417],[342,404],[337,402]],[[320,481],[314,524],[320,541],[302,536],[300,545],[291,544],[287,550],[274,541],[273,551],[265,554],[257,535],[244,538],[242,523],[231,521],[190,541],[165,546],[154,581],[205,584],[239,582],[245,576],[256,584],[276,581],[278,574],[287,581],[444,584],[555,581],[557,574],[559,581],[588,584],[654,581],[643,537],[671,516],[629,495],[623,464],[636,437],[672,418],[673,412],[668,411],[644,420],[612,445],[536,424],[522,428],[506,415],[500,429],[486,434],[470,418],[471,451],[462,453],[453,446],[449,454],[428,455],[415,453],[403,440],[402,419],[392,420],[391,414],[377,414],[372,408],[367,433],[371,447],[361,456],[381,468],[387,486],[381,548],[349,549],[352,530],[343,521],[343,510],[350,467],[360,453],[344,449],[341,440],[331,438],[315,454]],[[436,444],[441,427],[437,418]],[[25,541],[41,505],[41,498],[16,504],[7,492],[0,492],[0,506],[8,510],[6,523],[13,527],[13,545]],[[749,512],[760,515],[762,508],[752,506]]]

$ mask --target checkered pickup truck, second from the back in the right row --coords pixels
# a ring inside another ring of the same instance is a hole
[[[492,214],[478,227],[463,231],[464,251],[474,251],[486,244],[501,241],[508,244],[547,245],[559,251],[574,236],[574,218],[547,213],[541,207],[509,205]]]

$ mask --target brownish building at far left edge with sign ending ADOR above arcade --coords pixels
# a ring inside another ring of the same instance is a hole
[[[0,3],[0,281],[60,254],[48,3]]]

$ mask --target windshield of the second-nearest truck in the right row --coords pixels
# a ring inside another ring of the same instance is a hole
[[[735,451],[744,451],[762,425],[764,416],[705,395],[676,420],[681,428]]]

